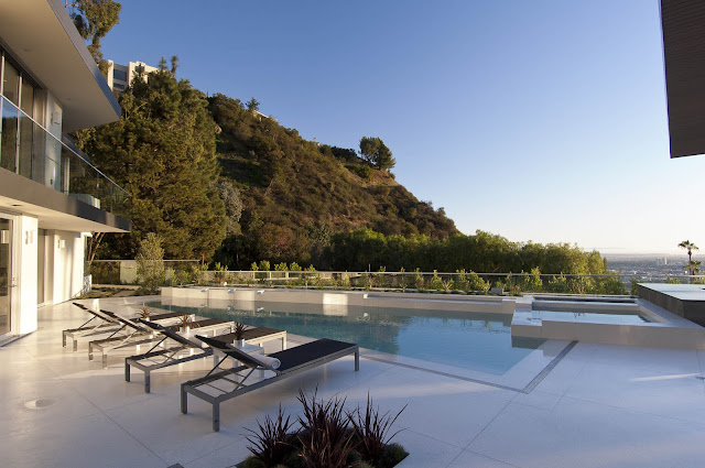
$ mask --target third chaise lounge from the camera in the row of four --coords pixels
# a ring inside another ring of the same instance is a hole
[[[183,313],[182,314],[175,313],[175,314],[184,315]],[[160,317],[165,315],[171,315],[171,314],[152,316],[150,317],[150,319],[158,320]],[[158,340],[160,339],[159,337],[155,338],[155,334],[151,328],[144,327],[142,325],[144,322],[140,324],[140,323],[135,323],[130,318],[123,318],[117,315],[115,315],[115,317],[124,326],[127,334],[119,335],[118,331],[116,331],[107,338],[94,340],[88,344],[88,359],[93,360],[94,351],[100,351],[102,353],[104,369],[108,367],[108,352],[115,349],[128,348],[137,345],[144,345],[148,342],[152,342],[155,339]],[[223,330],[223,329],[227,329],[229,331],[232,329],[234,325],[235,324],[232,322],[223,320],[220,318],[206,318],[203,320],[196,320],[191,323],[192,327],[198,328],[203,333],[214,331],[214,334],[217,334],[219,330]],[[174,333],[177,333],[178,325],[171,325],[169,329]]]

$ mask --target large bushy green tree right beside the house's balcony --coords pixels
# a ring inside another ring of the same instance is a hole
[[[217,126],[203,92],[166,70],[120,95],[122,118],[82,141],[95,164],[132,197],[122,216],[132,232],[112,235],[111,255],[132,258],[158,232],[167,258],[210,259],[226,232],[215,153]]]

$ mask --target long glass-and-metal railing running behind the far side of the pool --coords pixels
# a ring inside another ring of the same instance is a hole
[[[97,266],[100,265],[100,266]],[[135,262],[94,262],[94,283],[137,283]],[[98,269],[112,271],[101,276]],[[120,273],[122,271],[122,273]],[[346,272],[346,271],[208,271],[198,260],[165,261],[164,285],[169,286],[257,286],[337,290],[375,290],[402,292],[435,292],[454,294],[636,294],[637,283],[702,283],[705,275],[638,275],[638,274],[531,274],[473,272]],[[126,282],[126,277],[130,282]],[[123,280],[120,281],[120,277]],[[112,279],[112,282],[110,281]]]

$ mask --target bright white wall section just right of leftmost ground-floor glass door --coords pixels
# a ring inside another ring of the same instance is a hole
[[[36,235],[37,219],[29,216],[18,217],[18,229],[14,230],[17,239],[17,261],[14,266],[17,287],[12,293],[18,294],[15,307],[19,314],[20,335],[36,329]]]

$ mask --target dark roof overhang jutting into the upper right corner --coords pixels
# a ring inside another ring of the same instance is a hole
[[[705,154],[705,1],[661,0],[671,157]]]

